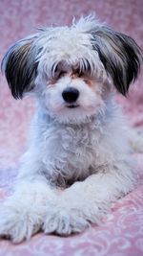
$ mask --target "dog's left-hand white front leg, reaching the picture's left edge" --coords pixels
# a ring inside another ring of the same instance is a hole
[[[13,243],[30,239],[41,229],[47,207],[54,207],[55,201],[55,190],[41,176],[22,179],[0,207],[0,237]]]

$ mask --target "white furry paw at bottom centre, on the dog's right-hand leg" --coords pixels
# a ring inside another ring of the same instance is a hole
[[[67,236],[82,232],[90,223],[72,209],[54,208],[48,211],[43,230],[46,234],[55,233]]]

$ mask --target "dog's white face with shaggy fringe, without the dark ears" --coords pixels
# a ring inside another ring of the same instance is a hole
[[[107,80],[90,35],[59,29],[51,43],[45,41],[35,86],[38,97],[41,95],[42,103],[58,121],[78,123],[101,111]]]

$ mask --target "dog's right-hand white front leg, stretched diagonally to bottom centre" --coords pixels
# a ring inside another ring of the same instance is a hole
[[[45,233],[69,235],[98,223],[112,202],[133,189],[134,177],[127,165],[112,166],[105,174],[89,176],[66,189],[44,222]]]

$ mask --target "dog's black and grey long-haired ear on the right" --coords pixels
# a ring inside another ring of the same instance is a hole
[[[92,32],[92,47],[98,52],[116,89],[125,96],[143,62],[139,46],[132,37],[103,26]]]

